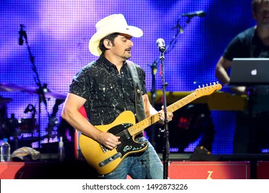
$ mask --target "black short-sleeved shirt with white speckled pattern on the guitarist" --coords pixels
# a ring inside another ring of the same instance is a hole
[[[141,93],[146,94],[145,72],[139,65],[136,67]],[[119,74],[116,66],[103,54],[79,70],[69,92],[87,100],[84,107],[92,125],[112,123],[126,110],[135,114],[135,89],[127,63],[123,64]]]

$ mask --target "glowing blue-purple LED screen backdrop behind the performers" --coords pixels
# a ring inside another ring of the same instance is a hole
[[[146,70],[149,92],[152,88],[150,66],[154,62],[158,62],[155,88],[162,89],[157,39],[164,39],[169,46],[163,65],[168,83],[166,91],[191,92],[199,85],[218,81],[215,65],[226,45],[241,30],[255,25],[250,0],[4,0],[0,6],[0,83],[21,85],[24,89],[2,90],[0,95],[12,99],[6,105],[9,118],[14,114],[16,119],[28,119],[32,113],[24,111],[29,104],[35,107],[35,118],[41,118],[41,136],[48,132],[48,114],[53,113],[56,99],[55,95],[47,97],[46,104],[41,101],[39,109],[39,95],[31,92],[37,88],[37,78],[52,92],[66,95],[74,74],[97,59],[90,54],[88,41],[95,32],[95,23],[103,17],[122,13],[130,26],[143,30],[143,37],[132,39],[131,60]],[[206,16],[192,17],[190,21],[188,17],[181,17],[199,10],[206,12]],[[21,24],[28,44],[19,45]],[[181,33],[178,33],[179,26]],[[54,112],[57,118],[62,106],[59,104]],[[211,113],[215,125],[212,153],[231,154],[235,112]]]

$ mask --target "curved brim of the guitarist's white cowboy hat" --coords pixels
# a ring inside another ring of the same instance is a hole
[[[122,33],[122,34],[129,34],[132,37],[141,37],[143,36],[143,31],[140,28],[135,26],[128,26],[127,28],[109,28],[108,30],[101,30],[93,34],[90,38],[89,42],[89,50],[94,56],[100,56],[101,50],[99,49],[99,42],[104,37],[107,37],[110,34],[114,33]]]

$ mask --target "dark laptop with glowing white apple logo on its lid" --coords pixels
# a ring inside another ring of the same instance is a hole
[[[229,85],[269,85],[269,59],[235,58]]]

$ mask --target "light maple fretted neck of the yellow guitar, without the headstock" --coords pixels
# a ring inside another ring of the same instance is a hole
[[[175,112],[176,110],[179,110],[179,108],[182,108],[184,105],[187,105],[188,103],[195,101],[197,99],[197,95],[195,92],[192,94],[189,94],[188,96],[185,96],[183,99],[180,99],[179,101],[172,103],[172,105],[169,105],[166,110],[168,112]],[[135,134],[138,134],[139,132],[143,131],[144,129],[148,128],[148,126],[156,123],[159,121],[159,114],[153,114],[152,116],[149,116],[146,119],[143,119],[143,121],[140,121],[139,123],[132,125],[132,127],[128,128],[128,131],[133,136]]]

